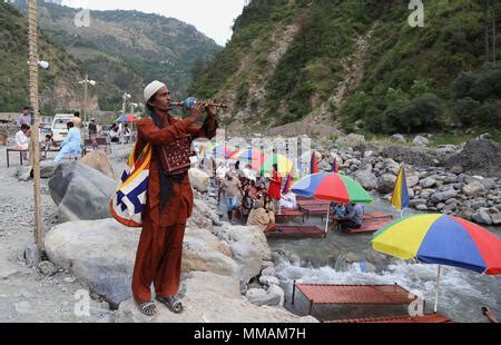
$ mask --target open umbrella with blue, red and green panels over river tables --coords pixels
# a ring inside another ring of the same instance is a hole
[[[334,174],[318,172],[306,176],[291,187],[292,191],[304,197],[314,197],[321,200],[330,200],[340,204],[370,204],[374,200],[371,195],[352,178]],[[328,213],[325,223],[325,233],[328,229]]]

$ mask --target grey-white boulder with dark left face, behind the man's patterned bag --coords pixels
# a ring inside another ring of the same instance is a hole
[[[62,162],[49,180],[52,200],[65,220],[109,218],[109,200],[118,183],[78,161]]]

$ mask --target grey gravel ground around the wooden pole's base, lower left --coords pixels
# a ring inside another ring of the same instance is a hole
[[[46,276],[24,263],[24,248],[33,243],[33,184],[18,180],[14,158],[7,168],[6,148],[0,148],[0,323],[114,322],[108,304],[88,298],[86,287],[67,272]],[[41,204],[48,231],[57,223],[48,180],[41,181]]]

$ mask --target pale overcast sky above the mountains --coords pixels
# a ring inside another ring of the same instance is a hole
[[[232,37],[233,20],[246,0],[63,0],[62,4],[91,10],[138,10],[173,17],[224,46]],[[91,14],[92,16],[92,14]]]

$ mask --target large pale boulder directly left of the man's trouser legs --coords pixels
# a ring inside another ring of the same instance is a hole
[[[139,234],[114,219],[65,223],[46,235],[45,248],[56,266],[117,307],[131,296]]]

